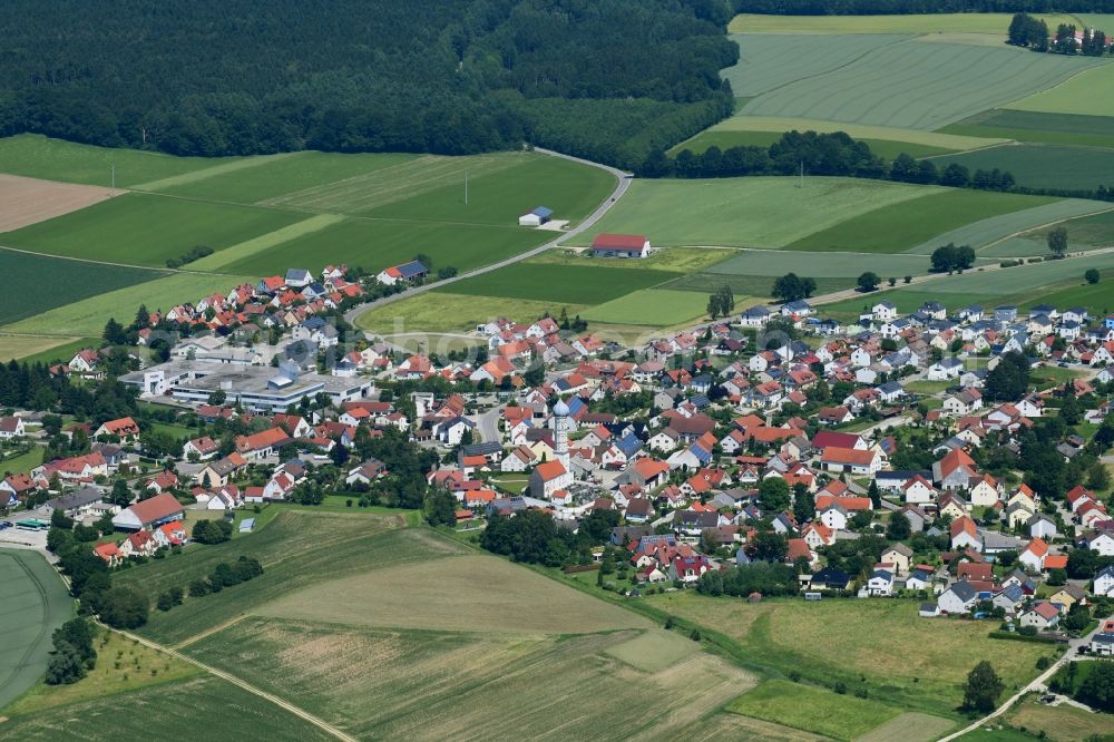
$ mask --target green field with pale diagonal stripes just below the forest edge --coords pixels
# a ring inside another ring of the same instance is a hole
[[[467,160],[427,155],[336,183],[304,188],[260,202],[264,206],[289,206],[310,211],[360,214],[378,206],[404,201],[434,188],[515,167],[520,157],[495,154]]]

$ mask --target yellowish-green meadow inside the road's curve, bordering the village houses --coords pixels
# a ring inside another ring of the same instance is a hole
[[[516,322],[532,322],[547,312],[557,316],[563,309],[571,318],[585,305],[431,291],[372,307],[359,316],[356,324],[379,334],[461,332],[475,330],[477,325],[500,316],[514,318]]]

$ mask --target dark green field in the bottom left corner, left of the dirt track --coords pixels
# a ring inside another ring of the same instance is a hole
[[[120,709],[133,709],[158,726],[159,739],[265,739],[283,742],[332,742],[334,738],[270,701],[213,675],[150,685],[80,701],[0,723],[0,739],[20,742],[108,740],[147,742],[146,723],[125,723]],[[204,730],[201,732],[199,730]]]

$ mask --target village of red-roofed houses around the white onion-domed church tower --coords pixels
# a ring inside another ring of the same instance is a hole
[[[649,250],[603,237],[615,260]],[[49,550],[51,523],[74,521],[117,567],[289,502],[444,498],[438,523],[458,531],[534,511],[605,524],[548,566],[596,568],[631,598],[784,564],[802,599],[915,599],[926,619],[1114,654],[1096,624],[1114,599],[1114,316],[880,301],[844,325],[794,301],[637,346],[499,318],[444,355],[344,322],[369,291],[426,277],[419,261],[362,282],[296,269],[138,316],[118,377],[135,414],[3,411],[4,450],[72,455],[6,472],[0,540]],[[50,373],[104,383],[108,345]]]

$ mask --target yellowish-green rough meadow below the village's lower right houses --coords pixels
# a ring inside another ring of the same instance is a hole
[[[1047,647],[987,638],[987,624],[926,621],[910,601],[763,601],[710,598],[673,593],[645,598],[670,614],[696,622],[739,643],[755,665],[798,670],[808,681],[851,690],[866,686],[871,699],[906,711],[950,714],[961,701],[960,684],[977,658],[989,660],[1007,687],[1035,675]],[[801,641],[817,626],[840,626],[823,643]],[[918,652],[909,653],[910,636]],[[895,663],[893,657],[902,661]],[[955,657],[971,657],[969,663]],[[860,680],[864,676],[866,680]]]

